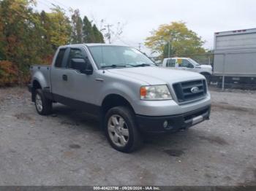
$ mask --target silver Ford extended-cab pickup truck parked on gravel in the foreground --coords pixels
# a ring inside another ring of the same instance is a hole
[[[138,148],[141,133],[187,129],[211,111],[203,75],[157,67],[135,48],[112,44],[59,47],[52,66],[31,66],[29,90],[39,114],[58,102],[99,117],[121,152]]]

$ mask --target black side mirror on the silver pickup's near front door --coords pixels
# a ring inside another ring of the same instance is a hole
[[[82,74],[91,75],[93,68],[88,58],[85,60],[83,58],[72,58],[71,68],[80,71]]]

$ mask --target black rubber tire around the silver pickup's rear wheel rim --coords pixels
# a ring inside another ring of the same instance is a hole
[[[45,98],[45,95],[41,89],[37,89],[34,96],[35,96],[34,105],[36,106],[37,113],[42,115],[50,114],[53,109],[53,102],[50,101],[48,98]],[[42,109],[39,109],[39,106],[37,106],[37,96],[41,98]]]

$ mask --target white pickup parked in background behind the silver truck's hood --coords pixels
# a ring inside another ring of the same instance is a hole
[[[186,71],[195,71],[206,77],[208,82],[212,75],[212,67],[210,65],[200,65],[191,58],[165,58],[162,62],[162,66]]]

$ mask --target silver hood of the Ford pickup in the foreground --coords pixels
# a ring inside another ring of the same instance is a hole
[[[154,66],[109,69],[108,71],[113,74],[138,79],[141,82],[148,83],[148,85],[173,84],[194,79],[204,79],[201,74],[196,72],[178,71]]]

